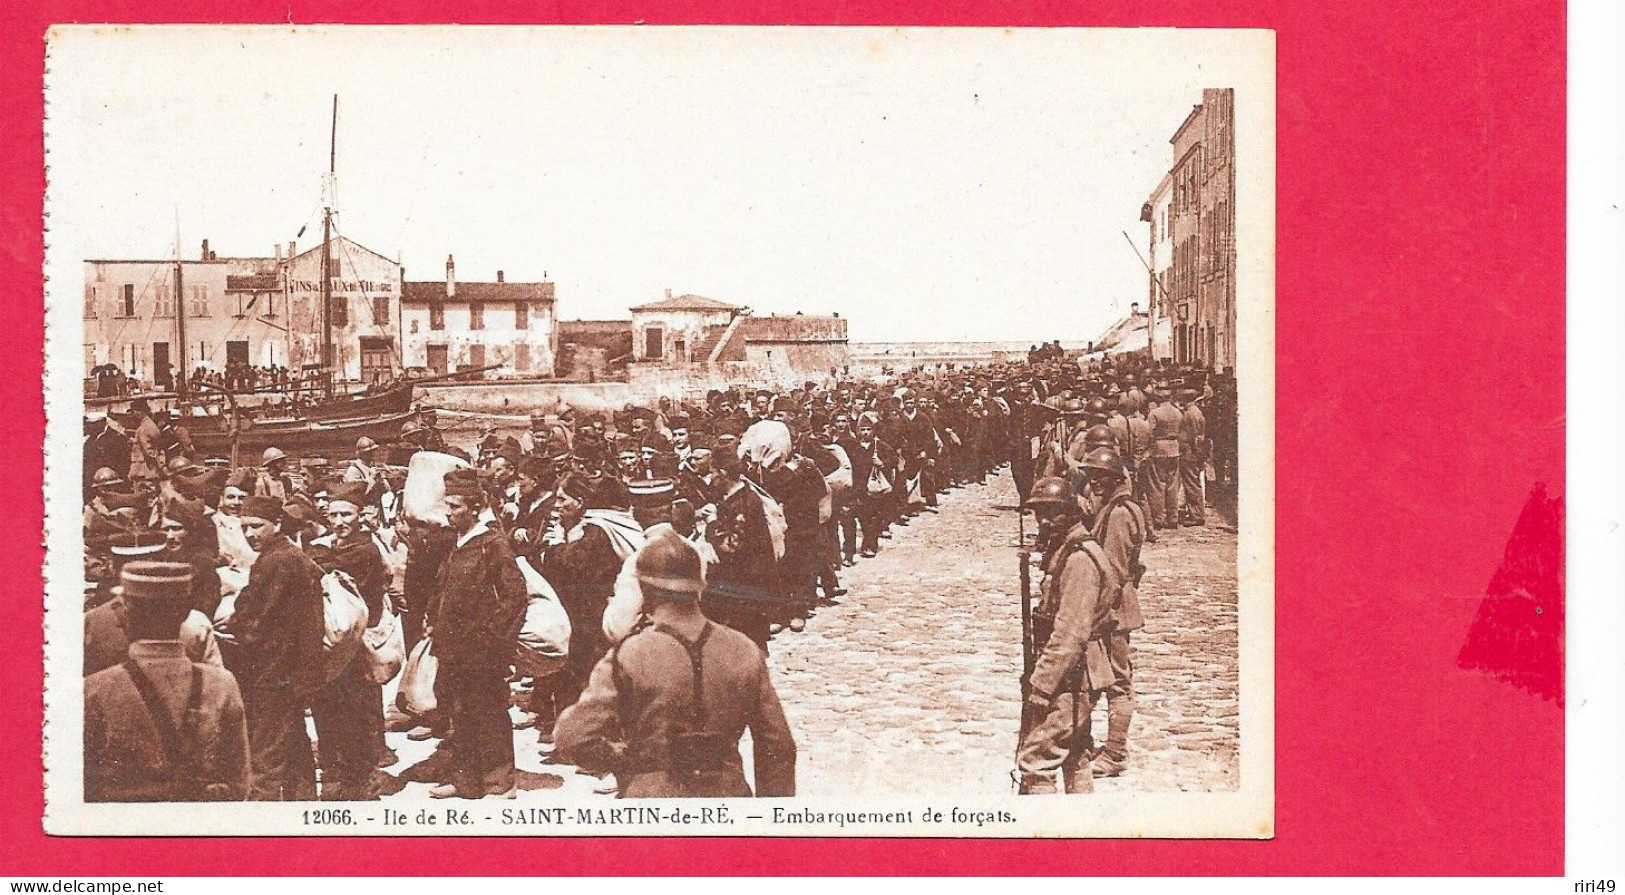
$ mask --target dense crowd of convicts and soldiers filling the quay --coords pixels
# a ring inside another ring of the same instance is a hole
[[[406,781],[512,798],[515,728],[622,796],[793,794],[770,638],[845,596],[842,572],[941,492],[1006,463],[1046,572],[1022,789],[1061,772],[1086,789],[1079,767],[1126,767],[1139,547],[1204,523],[1209,463],[1233,481],[1233,406],[1228,377],[1035,354],[619,413],[556,404],[462,448],[426,411],[341,468],[270,448],[234,469],[135,404],[86,445],[86,798],[353,801]],[[107,442],[120,432],[125,463]],[[458,460],[436,482],[439,518],[408,512],[419,452]],[[546,671],[515,661],[528,572],[569,617]],[[432,651],[432,710],[387,705],[370,646],[325,642],[335,573],[369,630],[393,617],[414,663]],[[1098,695],[1097,752],[1077,715]],[[439,749],[385,773],[387,729]]]

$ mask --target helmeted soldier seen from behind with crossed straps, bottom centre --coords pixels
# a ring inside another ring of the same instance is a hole
[[[765,655],[700,611],[694,546],[660,531],[635,567],[653,624],[593,668],[580,702],[559,718],[559,759],[613,772],[622,798],[751,796],[739,759],[749,729],[756,796],[795,796],[795,737]]]

